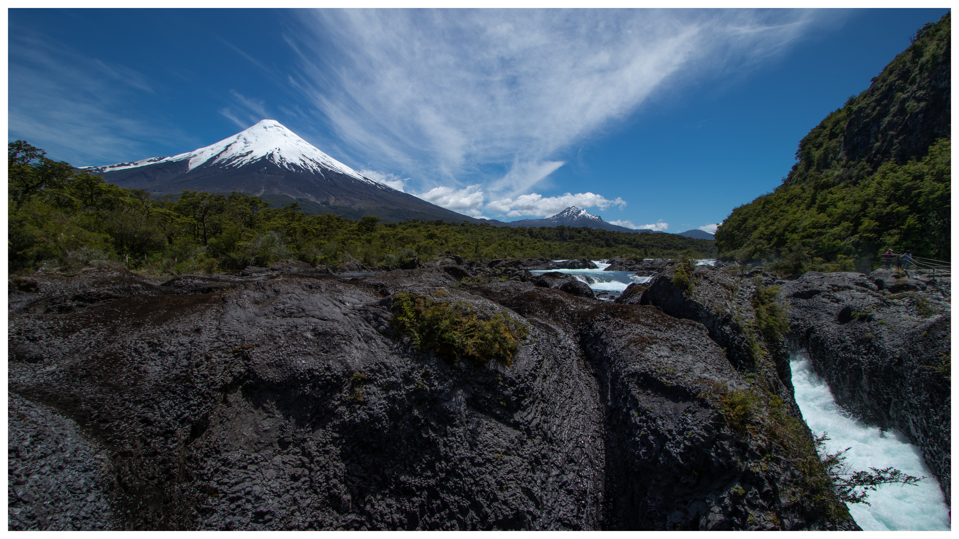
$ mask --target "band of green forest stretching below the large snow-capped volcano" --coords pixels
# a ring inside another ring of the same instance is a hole
[[[713,241],[671,234],[445,221],[384,224],[373,216],[308,215],[296,203],[270,208],[241,192],[183,191],[157,200],[53,161],[24,141],[9,145],[8,167],[11,272],[75,270],[91,259],[155,274],[238,270],[288,258],[327,266],[353,259],[393,266],[444,251],[473,259],[651,258],[687,250],[702,258],[715,255]]]

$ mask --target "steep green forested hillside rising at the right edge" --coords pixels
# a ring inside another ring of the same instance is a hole
[[[720,257],[869,271],[886,249],[950,258],[950,16],[800,142],[775,191],[716,231]]]

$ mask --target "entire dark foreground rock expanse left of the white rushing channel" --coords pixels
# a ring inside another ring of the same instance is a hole
[[[9,407],[103,460],[77,461],[79,492],[29,483],[13,470],[42,433],[9,415],[11,528],[857,528],[790,449],[804,433],[769,430],[789,407],[737,408],[775,373],[737,371],[707,326],[503,260],[436,265],[13,279]],[[447,362],[394,334],[399,293],[528,336],[508,367]],[[49,500],[87,524],[32,516]]]

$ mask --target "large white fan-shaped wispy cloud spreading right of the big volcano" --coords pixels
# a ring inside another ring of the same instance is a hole
[[[298,15],[288,36],[299,56],[291,82],[352,153],[403,170],[422,191],[471,189],[490,201],[537,194],[563,165],[564,149],[617,124],[670,81],[775,55],[814,18],[650,10]],[[484,208],[524,211],[491,204]]]

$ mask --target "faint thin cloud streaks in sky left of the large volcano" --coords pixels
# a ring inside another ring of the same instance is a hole
[[[138,98],[156,94],[146,76],[78,55],[50,36],[12,29],[8,70],[8,136],[55,159],[77,166],[115,163],[130,154],[148,156],[145,140],[192,139],[137,110]]]

